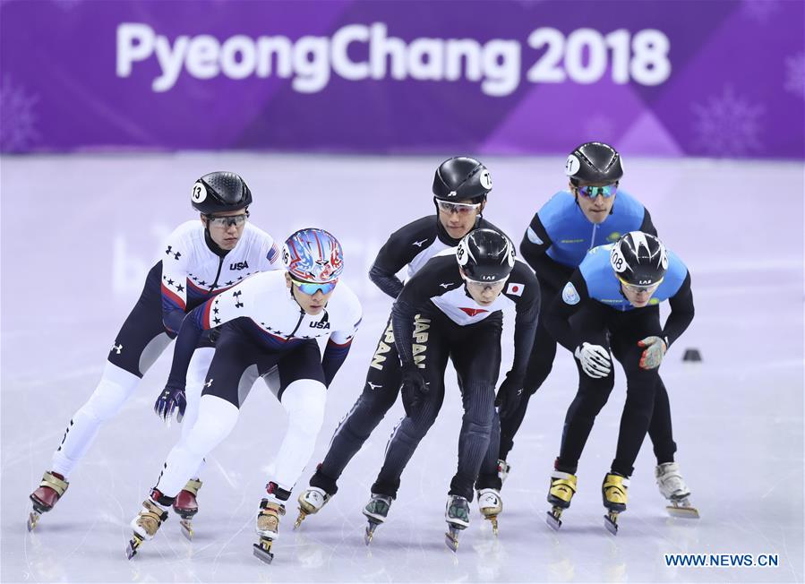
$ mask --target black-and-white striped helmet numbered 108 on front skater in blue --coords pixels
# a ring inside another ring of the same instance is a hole
[[[654,286],[663,281],[668,256],[663,242],[642,231],[629,231],[610,253],[612,270],[618,279],[632,286]]]

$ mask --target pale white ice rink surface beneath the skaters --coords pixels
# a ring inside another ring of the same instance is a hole
[[[2,580],[124,581],[802,581],[803,167],[801,163],[627,159],[623,190],[644,202],[666,245],[690,268],[696,319],[663,364],[677,460],[700,520],[666,516],[648,443],[629,488],[621,532],[603,525],[600,485],[614,455],[622,370],[578,469],[561,531],[545,525],[545,494],[577,383],[561,348],[529,405],[510,455],[500,535],[480,518],[458,554],[443,543],[461,409],[455,374],[441,417],[403,475],[371,548],[361,508],[393,408],[347,467],[340,491],[293,531],[295,498],[364,384],[390,298],[366,277],[395,228],[433,212],[433,169],[444,157],[270,154],[79,155],[2,159]],[[563,187],[563,157],[482,158],[493,190],[485,216],[518,243],[535,210]],[[73,412],[90,396],[116,331],[162,239],[193,218],[198,176],[234,170],[251,186],[252,220],[282,240],[323,227],[346,250],[345,279],[364,323],[328,395],[313,460],[296,485],[269,565],[252,555],[265,469],[286,421],[262,384],[236,430],[208,459],[193,543],[172,516],[132,562],[129,521],[178,437],[151,411],[170,351],[71,477],[56,509],[29,534],[28,495]],[[617,204],[617,203],[616,203]],[[508,326],[506,331],[511,331]],[[503,373],[510,364],[504,331]],[[700,364],[683,363],[698,348]],[[778,554],[777,567],[671,568],[664,554]]]

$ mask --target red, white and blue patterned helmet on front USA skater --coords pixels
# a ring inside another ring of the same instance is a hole
[[[304,282],[332,282],[344,271],[344,252],[332,234],[299,229],[282,246],[282,262],[291,277]]]

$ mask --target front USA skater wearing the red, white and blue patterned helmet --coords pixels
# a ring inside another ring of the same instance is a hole
[[[361,305],[344,282],[343,253],[327,231],[307,228],[282,249],[286,271],[255,274],[208,300],[184,319],[161,410],[170,417],[184,390],[187,365],[203,331],[221,327],[199,414],[190,433],[167,455],[157,484],[132,520],[131,559],[156,535],[188,478],[237,422],[239,408],[258,377],[278,375],[277,397],[288,415],[287,433],[272,465],[257,515],[254,554],[270,563],[285,503],[313,455],[324,418],[326,391],[347,358],[361,321]],[[321,356],[316,339],[329,337]]]

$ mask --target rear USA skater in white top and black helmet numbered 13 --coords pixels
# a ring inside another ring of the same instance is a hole
[[[140,299],[109,350],[98,387],[70,418],[50,469],[30,494],[29,530],[64,495],[73,469],[100,426],[133,395],[142,376],[176,337],[184,314],[249,275],[278,267],[274,239],[246,220],[252,200],[244,179],[232,172],[212,172],[193,185],[190,201],[201,213],[201,221],[187,221],[167,238],[165,253],[149,271]],[[179,403],[184,434],[193,425],[213,346],[214,339],[205,334],[194,354],[196,346],[191,348],[187,397],[181,396]],[[183,518],[198,511],[195,495],[201,487],[200,470],[194,469],[193,480],[176,499],[175,510]]]

